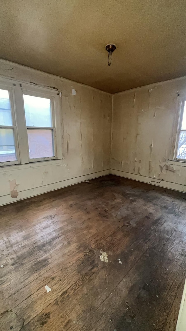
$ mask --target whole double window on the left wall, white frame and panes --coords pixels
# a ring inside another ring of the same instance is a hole
[[[0,79],[0,166],[62,158],[57,91]]]

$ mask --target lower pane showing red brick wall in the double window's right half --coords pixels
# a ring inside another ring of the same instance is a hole
[[[30,159],[54,156],[53,130],[27,129]]]

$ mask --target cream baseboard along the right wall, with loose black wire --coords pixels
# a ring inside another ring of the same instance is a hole
[[[148,184],[152,184],[152,185],[156,185],[156,186],[161,186],[161,187],[169,188],[171,190],[175,190],[175,191],[179,191],[179,192],[186,192],[186,186],[185,185],[171,183],[171,182],[167,182],[165,180],[163,180],[160,183],[160,182],[158,182],[158,179],[156,179],[156,178],[145,177],[145,176],[142,176],[142,175],[137,175],[135,173],[129,173],[129,172],[115,170],[115,169],[111,169],[110,173],[112,175],[137,180],[139,182],[144,182],[144,183],[148,183]],[[153,181],[153,183],[150,183],[151,181]]]

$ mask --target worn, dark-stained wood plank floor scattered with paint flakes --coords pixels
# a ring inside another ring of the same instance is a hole
[[[109,175],[0,215],[1,331],[175,330],[185,194]]]

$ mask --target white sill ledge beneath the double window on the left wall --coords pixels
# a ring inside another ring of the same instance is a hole
[[[10,165],[10,166],[1,166],[0,172],[7,172],[12,170],[21,170],[21,169],[28,169],[28,168],[37,168],[39,166],[50,166],[61,164],[63,159],[58,160],[48,160],[48,161],[38,161],[38,162],[31,162],[26,164],[17,164],[17,165]]]

